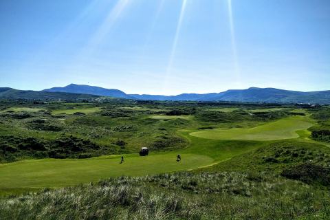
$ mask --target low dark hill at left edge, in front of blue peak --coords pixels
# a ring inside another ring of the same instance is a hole
[[[71,94],[63,92],[47,92],[47,91],[25,91],[12,88],[0,87],[0,98],[26,99],[26,100],[76,100],[98,98],[89,94]]]

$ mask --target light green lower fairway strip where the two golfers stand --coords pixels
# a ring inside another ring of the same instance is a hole
[[[121,175],[153,175],[177,170],[198,168],[214,162],[206,155],[182,153],[177,162],[176,153],[140,157],[125,155],[91,159],[29,159],[0,165],[0,189],[42,188],[72,186]]]

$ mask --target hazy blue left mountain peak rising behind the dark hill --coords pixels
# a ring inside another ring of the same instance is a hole
[[[113,98],[132,98],[118,89],[104,89],[102,87],[92,87],[89,85],[70,84],[66,87],[54,87],[43,91],[61,91],[73,94],[91,94],[96,96],[111,96]]]

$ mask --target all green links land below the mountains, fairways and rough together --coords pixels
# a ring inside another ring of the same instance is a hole
[[[329,219],[329,115],[290,104],[3,100],[0,213]]]

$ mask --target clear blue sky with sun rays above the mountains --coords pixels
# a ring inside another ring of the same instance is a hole
[[[0,87],[330,89],[328,0],[1,0]]]

